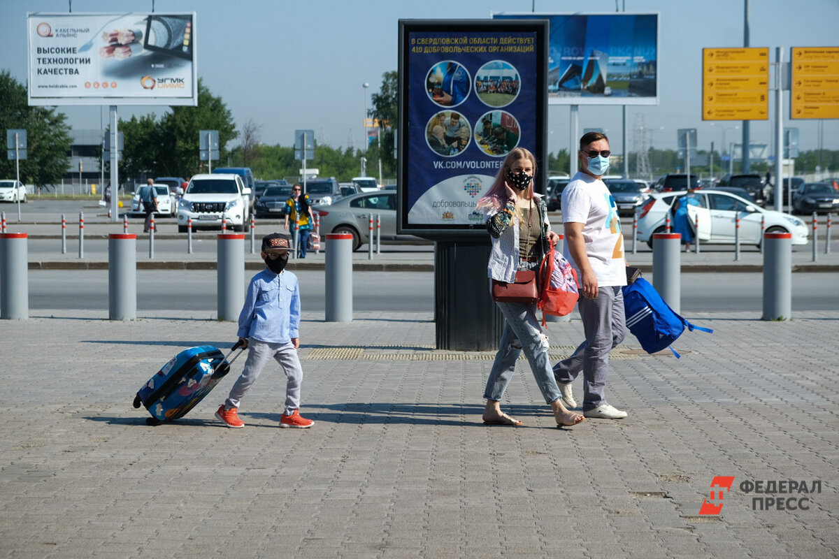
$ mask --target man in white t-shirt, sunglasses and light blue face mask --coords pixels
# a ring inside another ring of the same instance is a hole
[[[609,352],[623,341],[626,260],[618,207],[601,180],[609,168],[609,140],[601,132],[580,139],[580,171],[562,192],[564,254],[580,283],[580,316],[586,341],[554,365],[565,407],[576,407],[571,382],[583,373],[583,416],[621,419],[626,411],[606,401]]]

